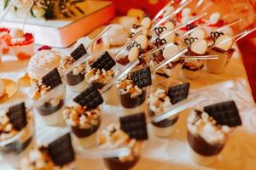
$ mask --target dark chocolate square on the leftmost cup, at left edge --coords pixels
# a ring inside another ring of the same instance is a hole
[[[18,105],[14,105],[9,107],[9,111],[7,113],[10,122],[15,127],[15,130],[20,131],[23,127],[26,127],[26,106],[25,103],[22,102]]]

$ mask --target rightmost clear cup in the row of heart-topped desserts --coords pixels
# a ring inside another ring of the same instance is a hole
[[[230,59],[235,51],[235,48],[230,48],[228,51],[217,47],[210,49],[210,54],[218,55],[218,59],[207,60],[207,70],[214,74],[221,74],[224,72],[226,65],[229,64]]]

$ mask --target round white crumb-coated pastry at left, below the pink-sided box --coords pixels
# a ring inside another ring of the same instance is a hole
[[[43,49],[32,56],[27,67],[28,76],[33,82],[40,80],[44,75],[57,67],[61,56],[51,49]]]

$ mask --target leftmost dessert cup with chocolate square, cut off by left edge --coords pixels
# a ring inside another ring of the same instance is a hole
[[[0,152],[3,161],[19,167],[20,158],[33,145],[34,122],[24,103],[9,107],[0,113]]]

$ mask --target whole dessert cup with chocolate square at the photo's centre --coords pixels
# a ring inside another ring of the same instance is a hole
[[[146,87],[151,83],[149,67],[131,72],[117,82],[119,104],[123,115],[144,111]]]

